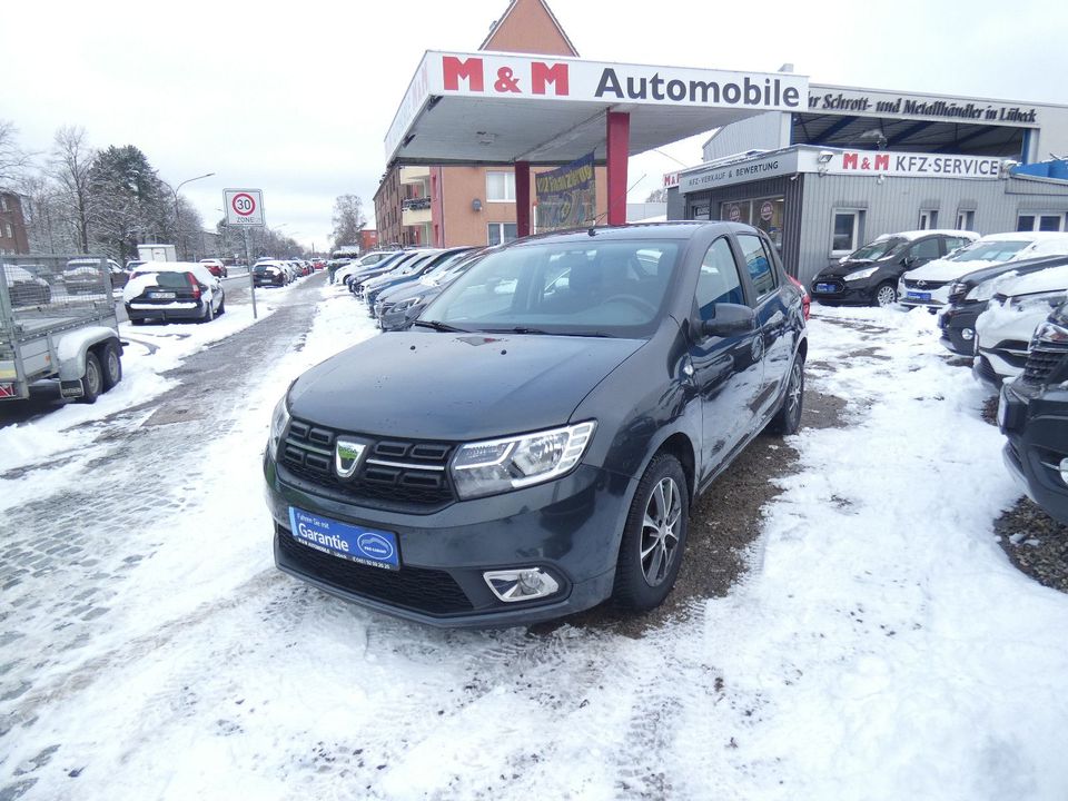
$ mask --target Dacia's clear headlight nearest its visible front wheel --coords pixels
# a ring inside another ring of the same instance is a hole
[[[587,421],[463,445],[452,464],[456,492],[462,498],[473,498],[562,476],[578,464],[596,427],[595,421]]]

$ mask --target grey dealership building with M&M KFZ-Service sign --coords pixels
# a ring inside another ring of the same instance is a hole
[[[880,234],[1068,230],[1068,107],[809,85],[665,178],[668,216],[765,230],[809,280]]]

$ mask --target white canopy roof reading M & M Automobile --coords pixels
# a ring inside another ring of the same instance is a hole
[[[797,111],[808,79],[602,63],[555,56],[427,52],[386,136],[386,161],[603,161],[605,115],[630,115],[629,154],[765,111]]]

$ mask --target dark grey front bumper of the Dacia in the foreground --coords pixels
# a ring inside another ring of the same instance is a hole
[[[527,625],[590,609],[612,592],[620,536],[636,482],[580,465],[525,490],[454,502],[429,514],[359,506],[265,457],[267,505],[280,570],[346,601],[443,627]],[[322,554],[289,533],[289,506],[396,534],[399,571]],[[505,603],[483,574],[541,567],[560,585],[536,601]]]

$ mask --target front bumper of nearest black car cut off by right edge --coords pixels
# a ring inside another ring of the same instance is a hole
[[[1068,392],[1018,384],[1001,389],[998,425],[1008,437],[1002,458],[1027,496],[1068,524],[1068,484],[1060,477],[1060,461],[1068,457]]]

